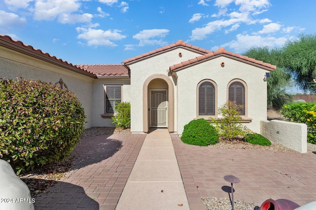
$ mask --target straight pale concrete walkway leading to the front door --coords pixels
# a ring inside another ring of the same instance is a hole
[[[190,210],[167,129],[147,134],[116,210]]]

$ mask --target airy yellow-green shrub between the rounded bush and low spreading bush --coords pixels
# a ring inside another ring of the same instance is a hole
[[[239,121],[241,106],[237,105],[233,101],[229,101],[218,109],[218,114],[222,116],[221,119],[211,119],[214,123],[215,129],[219,133],[220,137],[225,140],[237,140],[246,137],[249,133],[252,133],[250,129],[242,125]]]

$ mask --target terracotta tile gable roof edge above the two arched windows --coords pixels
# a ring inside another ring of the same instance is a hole
[[[209,53],[204,54],[202,56],[198,56],[194,59],[190,59],[190,60],[175,64],[173,66],[170,66],[169,70],[176,71],[176,70],[179,70],[179,68],[182,68],[184,66],[194,65],[201,60],[207,60],[209,58],[212,58],[212,57],[216,58],[219,56],[226,56],[226,57],[233,58],[233,59],[244,60],[248,63],[253,63],[255,65],[266,67],[266,69],[269,71],[273,71],[274,69],[276,69],[276,65],[272,65],[270,63],[265,63],[265,62],[260,61],[260,60],[248,58],[247,56],[242,56],[242,55],[239,55],[237,53],[232,53],[231,51],[226,51],[223,47],[221,47],[217,51],[210,51]]]

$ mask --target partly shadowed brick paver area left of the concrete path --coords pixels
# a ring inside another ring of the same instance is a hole
[[[146,134],[82,139],[71,176],[35,197],[36,210],[115,210]]]

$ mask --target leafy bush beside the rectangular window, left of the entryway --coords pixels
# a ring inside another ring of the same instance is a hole
[[[117,128],[128,128],[130,126],[130,103],[120,102],[116,105],[117,113],[112,117],[113,122]]]

